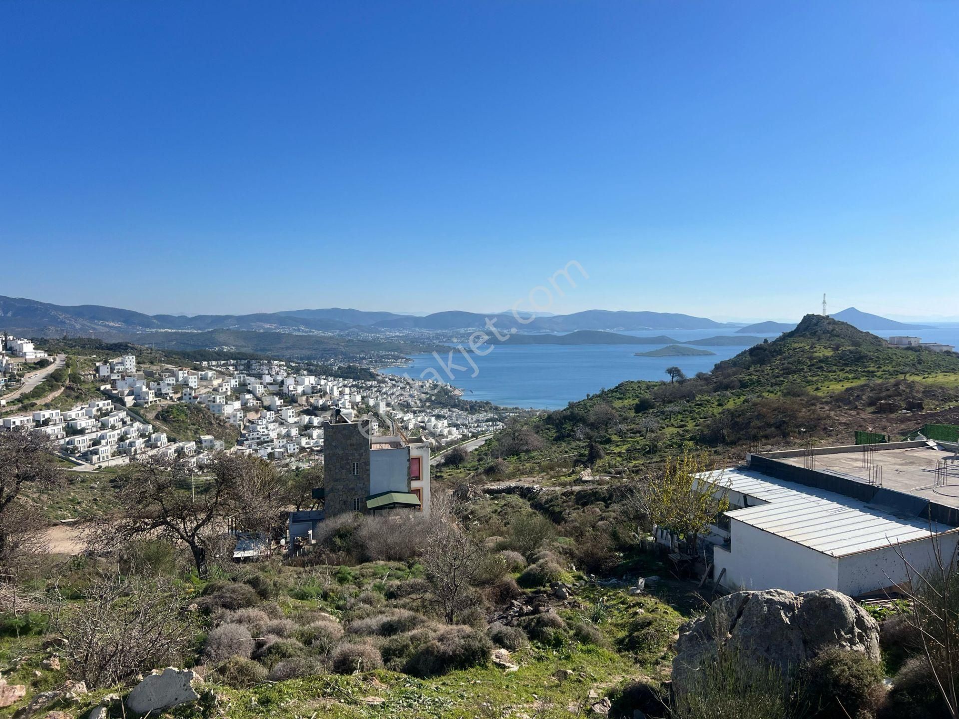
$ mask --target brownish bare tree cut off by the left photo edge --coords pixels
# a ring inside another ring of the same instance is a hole
[[[60,472],[50,438],[39,431],[0,432],[0,582],[39,558],[46,548],[43,517],[23,490],[55,486]]]

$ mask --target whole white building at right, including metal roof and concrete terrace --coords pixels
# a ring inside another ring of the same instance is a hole
[[[730,499],[710,537],[713,579],[734,590],[859,596],[904,582],[903,557],[924,570],[934,545],[951,556],[959,541],[954,450],[926,441],[865,447],[749,454],[744,467],[700,475]]]

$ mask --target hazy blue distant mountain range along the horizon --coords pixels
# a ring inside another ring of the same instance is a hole
[[[923,325],[896,322],[876,314],[861,313],[855,308],[832,315],[864,330],[921,330]],[[612,312],[587,310],[573,314],[532,316],[519,313],[487,315],[460,311],[439,312],[425,316],[389,312],[364,312],[343,308],[318,310],[287,310],[276,313],[251,314],[145,314],[101,305],[54,305],[22,297],[0,296],[0,331],[27,336],[99,336],[115,339],[131,334],[156,332],[209,332],[213,330],[259,331],[277,333],[338,333],[362,331],[389,333],[390,331],[456,331],[481,329],[487,319],[495,322],[498,331],[516,328],[519,335],[530,333],[573,333],[581,331],[636,330],[709,330],[738,327],[737,324],[716,322],[707,317],[680,313]],[[795,325],[781,322],[761,322],[737,330],[744,335],[768,335],[791,330]],[[645,338],[633,338],[629,344],[652,344]],[[672,340],[665,337],[665,340]],[[518,342],[517,342],[518,343]],[[610,343],[610,338],[594,338],[590,342],[564,340],[543,343]],[[718,343],[718,342],[714,342]]]

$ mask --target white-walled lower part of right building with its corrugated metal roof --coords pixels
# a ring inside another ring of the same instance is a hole
[[[718,477],[730,499],[728,530],[713,528],[712,539],[720,540],[713,547],[713,577],[720,584],[856,596],[904,582],[903,556],[914,568],[928,568],[935,559],[933,538],[946,560],[951,557],[959,529],[924,519],[915,503],[897,497],[901,493],[854,482],[851,494],[873,495],[856,499],[812,486],[819,473],[806,472],[809,484],[755,469]],[[835,476],[822,474],[835,483]]]

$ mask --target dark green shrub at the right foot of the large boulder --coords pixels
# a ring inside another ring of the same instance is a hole
[[[843,712],[855,717],[875,708],[882,670],[861,652],[828,649],[799,667],[796,682],[811,717],[829,719]]]

